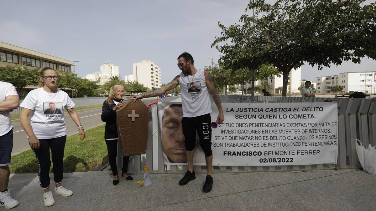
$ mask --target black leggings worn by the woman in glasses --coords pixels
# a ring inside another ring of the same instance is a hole
[[[39,149],[33,149],[39,167],[39,184],[43,189],[50,187],[50,148],[55,184],[60,184],[63,179],[63,158],[66,140],[67,136],[61,136],[53,139],[39,139]]]

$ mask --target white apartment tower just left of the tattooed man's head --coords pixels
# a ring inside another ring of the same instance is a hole
[[[150,60],[141,60],[133,63],[133,75],[126,75],[125,81],[138,81],[149,89],[160,88],[161,68]]]

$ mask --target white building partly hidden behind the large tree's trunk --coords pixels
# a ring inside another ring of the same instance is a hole
[[[288,84],[287,84],[287,93],[297,93],[297,92],[300,93],[300,91],[298,90],[298,88],[300,87],[300,75],[301,75],[301,69],[300,68],[292,69],[290,71],[290,74],[289,74],[289,77],[288,77],[289,80],[288,80]],[[276,75],[272,75],[271,78],[272,79],[267,78],[267,80],[255,81],[255,86],[261,85],[262,81],[267,81],[267,83],[271,87],[270,90],[267,90],[267,91],[270,92],[272,95],[279,93],[278,87],[283,86],[283,75],[281,74],[280,77],[278,77]],[[239,90],[240,90],[240,93],[241,93],[242,85],[238,84],[235,87],[237,88],[238,93],[239,93]],[[247,84],[244,85],[244,89],[248,89],[249,87],[252,87],[252,84],[247,83]],[[282,93],[282,91],[280,91],[280,93]]]

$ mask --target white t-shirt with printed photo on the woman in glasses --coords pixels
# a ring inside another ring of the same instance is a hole
[[[30,109],[30,125],[38,139],[52,139],[67,135],[64,122],[64,109],[74,107],[67,93],[58,89],[48,93],[43,88],[34,89],[27,94],[21,107]]]

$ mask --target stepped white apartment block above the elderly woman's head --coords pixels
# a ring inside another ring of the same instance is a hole
[[[90,81],[96,81],[100,79],[100,84],[104,84],[110,80],[112,76],[120,76],[119,66],[115,66],[109,62],[103,62],[103,65],[100,66],[99,72],[94,72],[93,74],[86,75],[86,79]]]

